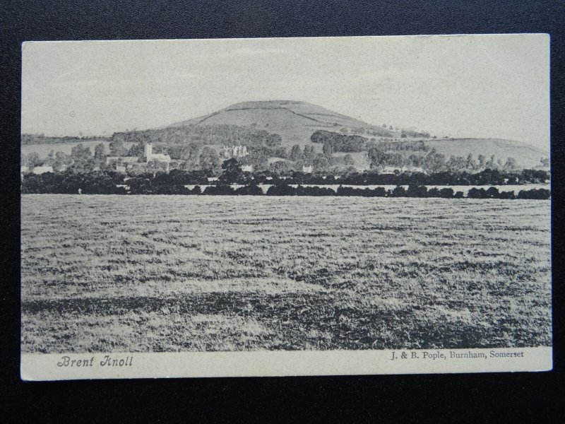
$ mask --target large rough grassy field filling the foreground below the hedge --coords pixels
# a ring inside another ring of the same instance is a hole
[[[23,352],[551,346],[549,201],[22,196]]]

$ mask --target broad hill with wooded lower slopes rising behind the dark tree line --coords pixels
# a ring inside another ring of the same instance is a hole
[[[41,150],[42,158],[50,150],[68,154],[78,141],[88,144],[93,140],[96,140],[95,143],[102,141],[100,138],[75,141],[72,138],[22,136],[24,153]],[[240,102],[202,117],[160,128],[117,132],[103,142],[107,148],[111,142],[122,143],[127,151],[131,145],[149,141],[155,143],[155,149],[160,153],[167,153],[175,160],[186,161],[190,158],[192,164],[189,167],[200,166],[198,152],[203,146],[220,153],[222,146],[232,145],[249,148],[252,154],[244,162],[254,165],[255,169],[262,169],[265,164],[270,166],[273,158],[291,160],[295,169],[302,169],[302,165],[312,164],[318,158],[315,165],[318,170],[335,167],[347,169],[352,165],[359,171],[369,169],[371,164],[394,169],[426,169],[430,164],[435,166],[432,163],[434,160],[444,161],[452,170],[460,170],[465,163],[467,165],[464,166],[469,170],[477,170],[484,166],[504,166],[502,164],[508,158],[515,159],[516,167],[535,168],[542,167],[542,158],[549,158],[549,151],[518,141],[436,139],[414,129],[376,126],[319,105],[292,100]],[[329,159],[329,163],[326,163],[320,157],[323,156],[323,147],[328,143],[333,153],[326,157]],[[298,158],[291,154],[295,145],[301,146],[302,153],[299,152]],[[370,155],[371,149],[381,153],[373,152]],[[443,158],[431,158],[429,155],[434,151],[444,155]],[[477,161],[477,165],[469,165],[470,162],[466,160],[469,154],[473,156],[473,161]],[[478,164],[479,155],[485,158],[482,165]],[[492,156],[494,161],[491,160]],[[451,157],[453,160],[450,162]]]

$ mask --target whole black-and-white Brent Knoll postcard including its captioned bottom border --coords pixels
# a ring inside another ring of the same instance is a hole
[[[552,368],[548,35],[22,57],[23,379]]]

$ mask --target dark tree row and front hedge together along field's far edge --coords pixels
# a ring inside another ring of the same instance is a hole
[[[183,171],[172,170],[171,172],[145,172],[142,175],[126,177],[114,171],[76,172],[72,168],[65,172],[45,172],[41,175],[27,174],[21,182],[22,193],[61,193],[61,194],[247,194],[258,195],[261,189],[258,184],[269,184],[268,195],[278,196],[408,196],[408,197],[463,197],[463,192],[453,193],[453,189],[427,189],[426,185],[487,185],[487,184],[516,184],[518,182],[545,182],[549,175],[545,171],[523,170],[520,175],[508,175],[505,177],[496,170],[485,170],[476,175],[467,175],[465,179],[461,175],[451,175],[442,172],[434,175],[425,174],[403,174],[403,175],[379,175],[379,174],[357,174],[335,178],[332,175],[311,175],[295,172],[291,177],[280,177],[270,172],[242,172],[239,162],[231,158],[222,163],[222,174],[215,185],[209,185],[208,173],[205,171]],[[453,179],[455,178],[455,180]],[[230,184],[244,184],[240,189],[233,189]],[[292,187],[297,184],[298,187]],[[303,187],[302,184],[313,184],[316,187]],[[337,192],[328,184],[340,184]],[[396,185],[395,189],[383,191],[383,187],[376,189],[360,189],[354,187],[343,187],[342,184],[367,185],[385,184]],[[185,185],[196,185],[189,190]],[[201,185],[206,185],[201,192]],[[404,189],[403,185],[408,185]],[[129,187],[129,189],[126,189]],[[239,190],[239,191],[238,191]],[[468,196],[477,199],[537,199],[547,198],[549,190],[524,191],[518,196],[513,192],[498,192],[496,187],[487,190],[473,188],[469,190]],[[547,192],[547,194],[546,194]],[[528,197],[530,196],[530,197]]]

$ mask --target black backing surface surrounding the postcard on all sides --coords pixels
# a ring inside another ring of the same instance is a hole
[[[2,422],[41,420],[563,422],[563,1],[4,1],[0,8]],[[473,375],[24,383],[20,350],[20,43],[461,33],[552,36],[554,371]],[[559,413],[559,416],[556,414]]]

